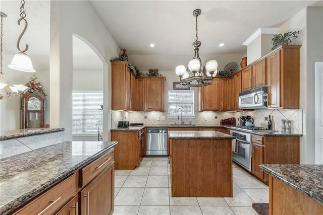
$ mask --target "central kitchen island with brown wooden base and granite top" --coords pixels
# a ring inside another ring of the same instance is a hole
[[[232,197],[232,139],[219,131],[169,131],[172,197]]]

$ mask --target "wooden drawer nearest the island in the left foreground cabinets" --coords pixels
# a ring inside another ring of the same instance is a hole
[[[109,153],[101,156],[96,161],[80,170],[80,187],[85,186],[93,178],[95,178],[105,167],[109,166],[114,161],[115,152],[112,149]]]

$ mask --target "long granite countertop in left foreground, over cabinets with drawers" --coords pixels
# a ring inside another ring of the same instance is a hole
[[[8,214],[109,151],[116,141],[72,141],[0,160],[0,214]]]

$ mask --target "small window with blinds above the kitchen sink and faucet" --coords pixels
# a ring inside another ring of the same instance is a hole
[[[178,114],[183,117],[194,116],[194,90],[169,90],[168,91],[168,117],[174,118]]]

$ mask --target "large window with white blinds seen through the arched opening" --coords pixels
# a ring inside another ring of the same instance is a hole
[[[97,135],[102,130],[102,91],[73,91],[73,134]]]

